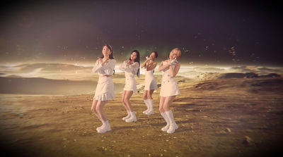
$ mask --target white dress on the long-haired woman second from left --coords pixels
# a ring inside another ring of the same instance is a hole
[[[137,70],[139,70],[139,63],[134,62],[132,65],[127,65],[127,62],[123,62],[119,65],[119,69],[125,72],[125,91],[137,92],[137,82],[134,79],[134,75],[137,75]]]

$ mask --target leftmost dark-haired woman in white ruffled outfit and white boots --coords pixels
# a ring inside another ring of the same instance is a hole
[[[93,111],[103,123],[103,125],[96,128],[99,133],[111,130],[108,119],[103,111],[103,107],[109,99],[115,97],[115,89],[111,76],[115,68],[116,60],[113,58],[112,47],[105,44],[103,46],[102,54],[103,56],[98,58],[96,65],[93,67],[93,73],[98,73],[99,79],[96,87],[96,94],[93,97],[93,104],[91,106],[91,111]]]

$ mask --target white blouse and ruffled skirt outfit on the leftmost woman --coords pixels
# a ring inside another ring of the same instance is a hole
[[[98,73],[100,76],[112,75],[115,68],[116,60],[110,59],[107,63],[102,65],[100,61],[96,61],[93,67],[93,73]],[[115,98],[115,87],[111,77],[99,77],[96,86],[96,94],[93,99],[100,101],[108,101]]]

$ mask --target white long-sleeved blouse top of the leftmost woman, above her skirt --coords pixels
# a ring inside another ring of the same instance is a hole
[[[99,73],[99,75],[112,75],[115,68],[116,60],[110,59],[104,65],[98,60],[93,67],[93,73]]]

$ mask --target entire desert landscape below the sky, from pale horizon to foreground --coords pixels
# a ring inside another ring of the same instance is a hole
[[[179,129],[166,125],[153,94],[145,115],[144,75],[132,96],[136,123],[125,123],[125,76],[116,70],[115,99],[105,105],[112,130],[99,134],[91,112],[98,76],[91,67],[22,64],[0,67],[0,148],[5,156],[275,156],[282,153],[282,69],[186,68],[173,101]]]

